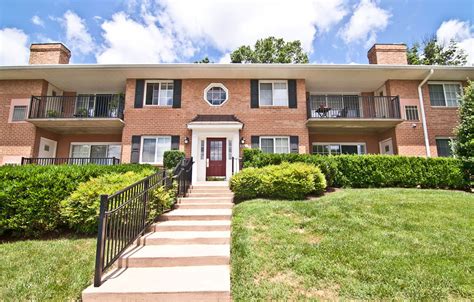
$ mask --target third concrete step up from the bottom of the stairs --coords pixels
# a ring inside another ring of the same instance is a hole
[[[138,245],[229,244],[230,231],[174,231],[145,234]],[[184,247],[183,247],[184,248]]]

